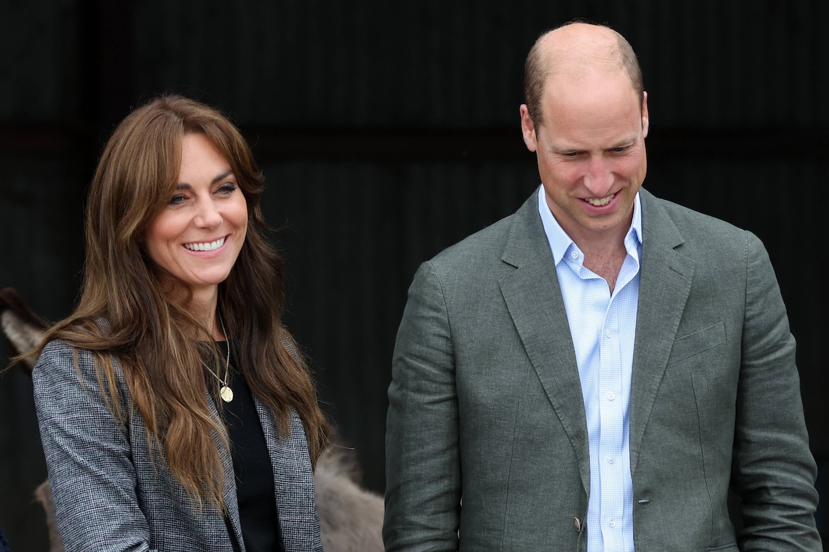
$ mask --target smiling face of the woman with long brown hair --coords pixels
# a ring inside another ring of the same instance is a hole
[[[205,135],[185,135],[176,190],[144,236],[150,258],[209,300],[239,257],[247,224],[230,163]]]

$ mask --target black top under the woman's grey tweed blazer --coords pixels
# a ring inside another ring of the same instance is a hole
[[[226,358],[227,342],[219,342]],[[283,552],[279,537],[279,518],[274,497],[274,469],[270,463],[268,444],[256,413],[253,394],[245,378],[236,368],[238,344],[230,352],[230,380],[233,401],[221,402],[220,409],[230,436],[233,471],[236,477],[236,498],[242,539],[248,552]],[[216,372],[225,379],[224,367]],[[210,376],[214,386],[216,378]],[[218,387],[215,387],[218,388]]]

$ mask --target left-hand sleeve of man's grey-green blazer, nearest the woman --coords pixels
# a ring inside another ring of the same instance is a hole
[[[458,550],[458,398],[444,291],[414,276],[392,360],[386,419],[385,550]]]

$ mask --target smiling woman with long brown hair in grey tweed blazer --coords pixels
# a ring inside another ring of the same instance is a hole
[[[104,147],[80,302],[33,373],[66,550],[322,550],[327,423],[280,321],[262,182],[233,124],[179,96]]]

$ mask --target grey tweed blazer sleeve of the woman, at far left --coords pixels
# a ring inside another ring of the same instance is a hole
[[[151,550],[148,522],[136,497],[128,430],[104,401],[92,354],[51,342],[32,380],[66,552]]]

